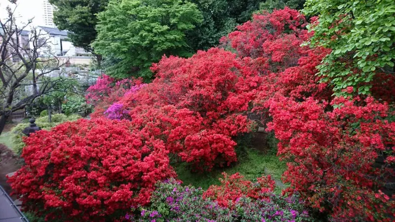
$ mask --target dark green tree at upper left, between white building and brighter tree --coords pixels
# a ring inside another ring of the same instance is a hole
[[[54,23],[61,30],[68,30],[73,44],[92,51],[91,42],[97,36],[96,14],[103,11],[109,0],[49,0],[58,10]]]

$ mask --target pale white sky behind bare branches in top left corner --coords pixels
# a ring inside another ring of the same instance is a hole
[[[17,22],[19,24],[26,23],[28,19],[33,19],[33,24],[38,25],[42,19],[40,16],[41,0],[17,0],[16,15],[18,16]],[[4,19],[7,17],[5,8],[7,5],[12,5],[8,0],[0,0],[0,18]],[[12,7],[14,8],[14,6]]]

